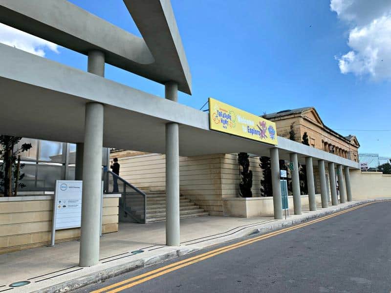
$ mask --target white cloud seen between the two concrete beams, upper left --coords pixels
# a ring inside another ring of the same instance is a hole
[[[58,45],[0,23],[0,42],[23,51],[44,57],[45,51],[59,53]]]

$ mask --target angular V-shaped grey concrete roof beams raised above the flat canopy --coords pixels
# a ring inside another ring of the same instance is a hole
[[[191,94],[192,78],[169,0],[124,0],[143,38],[66,0],[0,0],[0,22]]]

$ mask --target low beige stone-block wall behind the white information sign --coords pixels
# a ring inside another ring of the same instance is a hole
[[[0,197],[0,254],[50,244],[51,196]],[[118,198],[103,199],[102,232],[118,231]],[[56,231],[56,243],[77,239],[80,228]]]

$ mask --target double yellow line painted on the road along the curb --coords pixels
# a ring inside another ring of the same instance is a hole
[[[126,279],[124,281],[121,281],[121,282],[109,285],[107,287],[104,287],[104,288],[92,291],[91,293],[101,293],[101,292],[115,293],[115,292],[120,292],[122,290],[129,289],[129,288],[131,288],[133,286],[136,286],[138,284],[144,283],[144,282],[146,282],[148,280],[151,280],[153,278],[156,278],[158,276],[164,275],[164,274],[166,274],[168,272],[173,272],[173,271],[179,270],[181,268],[190,266],[192,264],[195,264],[195,263],[200,262],[202,260],[205,260],[205,259],[208,259],[210,257],[216,256],[218,254],[221,254],[221,253],[224,253],[224,252],[227,252],[227,251],[231,251],[231,250],[237,249],[239,247],[243,247],[243,246],[252,244],[254,242],[258,242],[258,241],[261,241],[263,239],[267,239],[267,238],[270,238],[270,237],[273,237],[273,236],[276,236],[276,235],[279,235],[279,234],[282,234],[282,233],[285,233],[285,232],[288,232],[288,231],[291,231],[291,230],[300,229],[300,228],[303,228],[303,227],[311,225],[311,224],[315,224],[315,223],[318,223],[318,222],[321,222],[321,221],[325,221],[325,220],[327,220],[329,218],[341,215],[343,213],[346,213],[346,212],[349,212],[349,211],[352,211],[352,210],[355,210],[355,209],[359,209],[359,208],[368,206],[368,205],[373,204],[373,203],[374,202],[370,202],[370,203],[366,203],[366,204],[363,204],[363,205],[360,205],[360,206],[356,206],[356,207],[353,207],[353,208],[350,208],[350,209],[345,209],[345,210],[342,210],[342,211],[339,211],[339,212],[336,212],[336,213],[333,213],[333,214],[330,214],[330,215],[327,215],[327,216],[324,216],[324,217],[321,217],[321,218],[318,218],[318,219],[315,219],[315,220],[311,220],[311,221],[305,222],[303,224],[299,224],[299,225],[296,225],[296,226],[284,228],[282,230],[277,230],[277,231],[274,231],[274,232],[263,234],[261,236],[257,236],[257,237],[251,238],[251,239],[240,241],[240,242],[237,242],[235,244],[231,244],[231,245],[228,245],[228,246],[224,246],[224,247],[215,249],[213,251],[208,251],[208,252],[205,252],[205,253],[202,253],[202,254],[199,254],[199,255],[196,255],[196,256],[193,256],[193,257],[181,260],[181,261],[174,262],[174,263],[172,263],[170,265],[158,268],[158,269],[153,270],[151,272],[146,272],[146,273],[140,274],[138,276],[134,276],[132,278]]]

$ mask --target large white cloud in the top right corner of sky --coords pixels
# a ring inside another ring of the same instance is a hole
[[[331,0],[330,8],[352,25],[351,50],[336,57],[341,73],[391,80],[391,1]]]

